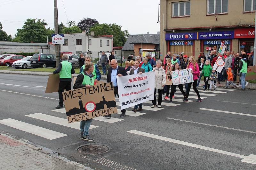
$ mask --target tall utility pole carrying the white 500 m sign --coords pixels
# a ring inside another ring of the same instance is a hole
[[[53,6],[54,6],[54,34],[59,34],[57,0],[54,0]],[[55,55],[56,55],[56,67],[58,67],[60,64],[60,44],[55,44]]]

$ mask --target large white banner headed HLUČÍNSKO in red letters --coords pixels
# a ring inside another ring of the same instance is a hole
[[[121,109],[154,100],[155,72],[116,76]]]

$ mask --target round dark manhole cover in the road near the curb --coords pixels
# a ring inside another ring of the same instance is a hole
[[[108,151],[108,147],[104,145],[86,145],[77,149],[80,153],[96,154]]]

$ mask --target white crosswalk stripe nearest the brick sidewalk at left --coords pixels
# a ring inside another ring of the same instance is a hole
[[[0,123],[50,140],[68,136],[64,133],[52,131],[43,127],[28,124],[11,118],[0,120]]]

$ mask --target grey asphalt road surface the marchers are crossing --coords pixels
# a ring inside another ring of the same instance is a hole
[[[179,105],[162,105],[163,109],[158,111],[144,109],[141,113],[145,114],[137,117],[121,118],[114,114],[112,117],[123,119],[115,123],[93,120],[92,125],[98,127],[90,129],[94,141],[88,142],[79,139],[77,129],[26,116],[41,113],[66,119],[64,113],[52,111],[58,105],[58,94],[44,93],[47,79],[0,74],[0,122],[11,118],[67,136],[50,140],[36,135],[42,131],[35,129],[28,133],[3,123],[0,132],[50,148],[93,169],[256,169],[255,158],[255,164],[253,160],[246,162],[247,156],[256,155],[256,91],[200,92],[206,97],[201,103],[189,98],[192,102],[173,101]],[[168,101],[163,102],[168,105]],[[78,147],[88,144],[105,145],[109,149],[100,154],[77,152]]]

